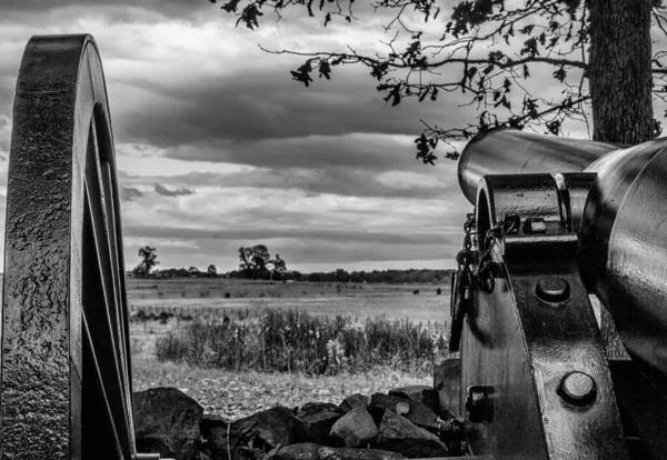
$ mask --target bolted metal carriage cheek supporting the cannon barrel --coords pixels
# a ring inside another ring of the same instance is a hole
[[[505,234],[492,249],[500,267],[496,288],[474,289],[462,336],[461,402],[470,387],[492,389],[492,414],[467,424],[474,454],[628,458],[600,333],[579,277],[578,238],[568,230],[561,201],[548,174],[489,176],[480,183],[478,234],[515,213],[522,223],[541,219],[545,229],[535,233],[522,224]],[[549,282],[552,278],[559,281]],[[540,299],[540,283],[542,292],[558,291],[556,298]]]

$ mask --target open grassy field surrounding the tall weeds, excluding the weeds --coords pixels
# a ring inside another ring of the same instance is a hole
[[[336,314],[364,319],[386,316],[414,322],[438,322],[445,330],[449,314],[448,286],[286,283],[225,279],[132,279],[127,280],[128,302],[135,312],[171,311],[182,314],[231,314],[265,308],[301,309],[312,316]],[[442,289],[438,296],[436,290]],[[419,290],[419,294],[414,294]],[[229,292],[229,298],[225,298]],[[429,374],[412,376],[391,369],[374,369],[368,374],[306,377],[260,374],[199,369],[186,363],[159,362],[155,344],[159,337],[182,326],[170,319],[132,323],[132,381],[135,391],[152,387],[176,387],[199,401],[207,412],[236,419],[275,404],[295,407],[308,401],[338,403],[355,392],[371,394],[407,384],[430,384]]]

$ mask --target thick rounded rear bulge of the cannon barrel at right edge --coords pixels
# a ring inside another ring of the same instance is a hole
[[[628,353],[667,374],[667,150],[639,172],[609,236],[601,293]],[[599,294],[598,294],[599,296]]]

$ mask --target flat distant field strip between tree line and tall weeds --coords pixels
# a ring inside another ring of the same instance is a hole
[[[341,314],[414,322],[449,320],[449,287],[431,284],[286,283],[225,279],[128,279],[128,301],[133,311],[211,312],[221,309],[299,309],[313,316]],[[442,289],[438,296],[436,290]],[[419,294],[414,294],[419,290]],[[226,299],[225,293],[230,298]]]

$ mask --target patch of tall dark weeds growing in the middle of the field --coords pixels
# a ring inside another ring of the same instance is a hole
[[[336,374],[374,367],[428,371],[447,354],[442,334],[408,320],[365,321],[305,311],[267,309],[258,317],[230,320],[200,317],[158,340],[161,361],[230,370]]]

